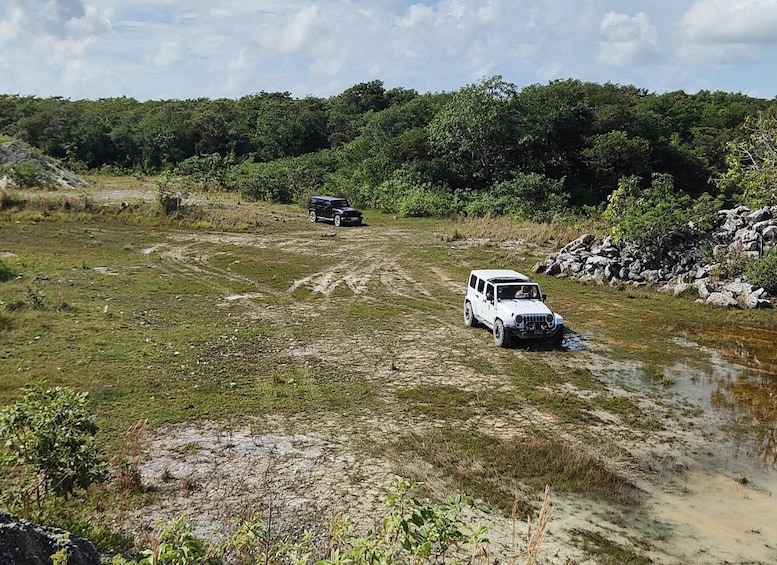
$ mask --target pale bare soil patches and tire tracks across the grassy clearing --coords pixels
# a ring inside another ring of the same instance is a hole
[[[116,195],[113,195],[116,197]],[[322,236],[326,227],[316,226]],[[163,245],[144,253],[160,253],[171,272],[246,283],[245,294],[228,293],[221,305],[240,303],[243,316],[271,319],[278,325],[300,320],[326,320],[327,297],[347,289],[355,300],[390,301],[391,296],[419,297],[438,301],[441,309],[458,308],[439,299],[438,289],[462,292],[463,282],[451,280],[442,270],[419,281],[405,268],[400,257],[385,251],[381,238],[397,233],[362,229],[339,230],[338,238],[350,250],[341,262],[326,270],[289,281],[287,293],[306,289],[320,295],[315,309],[310,302],[278,307],[263,303],[262,297],[277,290],[262,288],[255,281],[216,267],[202,243],[219,245],[286,247],[292,252],[301,245],[316,245],[308,233],[267,235],[189,234],[171,237]],[[456,242],[456,245],[479,245]],[[327,252],[326,237],[318,244]],[[342,253],[340,248],[339,253]],[[378,289],[378,290],[376,290]],[[220,304],[215,304],[219,307]],[[424,326],[409,320],[392,335],[361,341],[338,333],[336,328],[320,337],[296,342],[289,340],[285,354],[293,362],[327,363],[332,351],[338,362],[366,379],[381,383],[386,391],[416,383],[436,383],[477,391],[508,389],[509,377],[496,368],[484,374],[473,370],[455,348],[441,345],[440,335],[480,342],[492,347],[484,331],[454,325],[447,317],[432,316]],[[386,343],[391,343],[387,351]],[[688,343],[689,348],[695,344]],[[615,511],[585,498],[553,495],[553,514],[544,540],[544,563],[592,563],[575,541],[574,531],[600,532],[604,537],[632,547],[656,563],[774,563],[777,562],[777,481],[757,458],[737,453],[721,431],[722,420],[708,410],[710,386],[701,383],[696,394],[656,398],[640,383],[640,364],[608,359],[595,335],[570,333],[563,351],[531,352],[516,349],[512,355],[541,355],[550,363],[590,368],[616,395],[637,398],[645,418],[669,422],[663,431],[635,429],[617,417],[602,413],[603,424],[585,431],[561,426],[547,414],[534,409],[479,417],[477,426],[499,437],[525,433],[529,425],[552,430],[559,437],[596,453],[607,465],[628,477],[644,493],[646,504],[633,512]],[[709,352],[710,374],[736,375],[742,368]],[[687,369],[687,370],[686,370]],[[683,382],[696,379],[693,370],[677,360],[671,369]],[[684,372],[685,371],[685,372]],[[708,381],[707,384],[710,384]],[[693,388],[693,385],[691,385]],[[569,387],[559,394],[585,394]],[[701,415],[687,410],[701,406]],[[408,421],[387,413],[363,413],[347,428],[341,422],[311,417],[256,418],[240,422],[212,422],[203,426],[179,425],[157,431],[150,438],[147,461],[142,467],[146,484],[158,488],[152,507],[138,512],[128,522],[142,526],[148,535],[156,518],[185,514],[194,519],[204,535],[218,535],[229,517],[245,505],[253,505],[274,517],[277,531],[300,530],[322,525],[334,515],[348,514],[369,525],[379,515],[379,500],[387,477],[412,471],[426,478],[432,491],[449,493],[446,477],[418,462],[384,460],[365,455],[363,446],[380,443],[399,428],[424,429],[442,425],[433,419]],[[462,464],[467,464],[462,462]],[[747,477],[747,480],[742,480]],[[526,495],[524,493],[524,495]],[[534,501],[541,498],[536,493]],[[522,517],[523,519],[523,517]],[[511,520],[488,508],[478,510],[473,521],[491,528],[492,562],[505,563],[523,549],[524,525],[516,537]]]

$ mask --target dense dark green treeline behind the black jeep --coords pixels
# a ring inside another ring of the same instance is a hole
[[[405,215],[535,218],[599,205],[620,179],[717,190],[726,147],[770,101],[495,76],[453,93],[357,84],[330,98],[71,101],[0,96],[0,133],[75,170],[186,174],[246,197],[335,192]]]

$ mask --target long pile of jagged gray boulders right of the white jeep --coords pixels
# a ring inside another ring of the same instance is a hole
[[[534,272],[597,284],[651,285],[666,292],[698,294],[710,306],[768,308],[772,297],[742,276],[726,279],[727,265],[758,258],[777,245],[777,206],[744,206],[718,212],[719,227],[704,240],[685,242],[660,260],[613,241],[586,234],[548,255]]]

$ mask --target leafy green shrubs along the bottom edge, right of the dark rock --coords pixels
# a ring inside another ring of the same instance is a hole
[[[437,505],[415,497],[420,486],[406,479],[394,480],[384,498],[387,511],[378,525],[360,535],[346,517],[333,521],[329,546],[321,553],[312,543],[311,532],[296,539],[274,539],[269,524],[250,513],[233,522],[233,529],[216,546],[198,538],[185,518],[161,523],[153,549],[142,552],[139,565],[185,565],[188,563],[296,563],[297,565],[421,565],[455,563],[455,551],[476,555],[488,544],[486,528],[472,526],[465,511],[472,501],[449,496]],[[453,557],[453,556],[451,556]],[[127,561],[114,561],[122,565]]]

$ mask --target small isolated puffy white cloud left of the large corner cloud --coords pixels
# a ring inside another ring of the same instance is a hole
[[[635,16],[608,12],[599,37],[599,60],[608,65],[638,65],[658,54],[658,32],[644,12]]]

